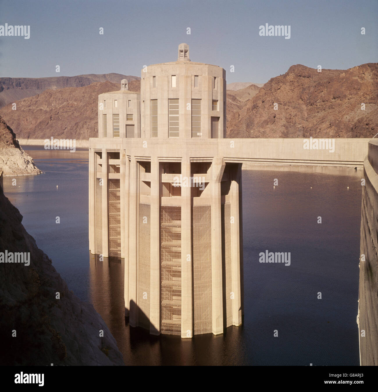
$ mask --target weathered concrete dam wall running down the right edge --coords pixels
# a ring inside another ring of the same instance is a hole
[[[371,366],[378,365],[378,140],[369,142],[363,174],[357,323],[360,363]]]

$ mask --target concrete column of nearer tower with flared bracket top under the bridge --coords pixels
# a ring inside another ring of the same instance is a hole
[[[211,300],[213,334],[223,333],[222,219],[220,181],[224,172],[223,158],[211,165]]]

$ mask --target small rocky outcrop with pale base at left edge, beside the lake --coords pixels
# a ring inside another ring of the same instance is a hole
[[[25,154],[16,135],[0,116],[0,173],[4,176],[40,174],[33,158]]]

